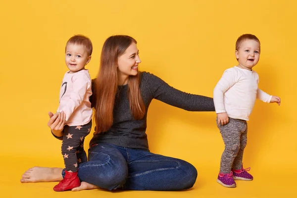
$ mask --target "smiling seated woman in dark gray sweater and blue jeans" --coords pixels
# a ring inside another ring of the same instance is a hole
[[[72,189],[175,191],[193,187],[196,168],[181,159],[149,152],[146,135],[152,99],[189,111],[214,111],[213,99],[178,91],[160,78],[139,72],[141,60],[135,39],[109,37],[102,48],[98,78],[90,99],[96,132],[90,141],[89,161],[79,164],[81,186]],[[49,127],[60,139],[63,113],[52,114]],[[21,182],[61,181],[61,168],[34,167]]]

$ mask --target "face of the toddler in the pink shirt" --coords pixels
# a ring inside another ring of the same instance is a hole
[[[85,69],[85,65],[91,60],[87,50],[82,45],[69,44],[66,47],[65,63],[70,70],[69,73],[75,73]]]

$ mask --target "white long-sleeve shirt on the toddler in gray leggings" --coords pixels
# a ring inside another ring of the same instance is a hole
[[[231,118],[248,120],[256,99],[269,103],[272,98],[258,89],[258,83],[255,71],[237,66],[225,70],[213,91],[216,113],[227,112]]]

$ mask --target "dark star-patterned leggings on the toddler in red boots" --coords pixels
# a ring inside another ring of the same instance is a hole
[[[62,155],[66,171],[76,172],[79,163],[88,161],[84,150],[84,140],[90,133],[91,128],[92,120],[82,126],[64,126]]]

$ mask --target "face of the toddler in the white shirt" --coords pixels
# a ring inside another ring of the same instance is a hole
[[[240,45],[239,50],[235,51],[239,67],[251,70],[259,61],[260,45],[254,40],[245,40]]]

